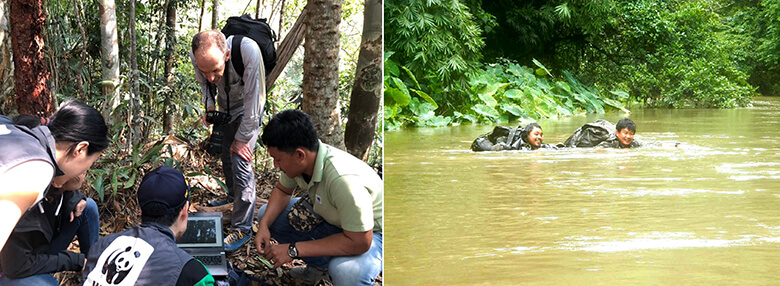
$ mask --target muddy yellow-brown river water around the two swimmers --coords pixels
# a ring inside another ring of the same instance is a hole
[[[556,143],[599,118],[621,115],[539,123]],[[492,126],[387,132],[386,283],[775,284],[780,100],[631,118],[671,144],[475,153]]]

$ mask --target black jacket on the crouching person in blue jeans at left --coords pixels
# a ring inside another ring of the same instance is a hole
[[[79,191],[64,192],[59,215],[55,210],[60,196],[41,200],[19,219],[3,250],[0,251],[0,271],[11,279],[25,278],[60,271],[81,271],[85,255],[66,250],[50,253],[52,238],[70,220],[70,213],[86,196]],[[40,206],[39,206],[40,205]],[[41,207],[45,212],[41,213]]]

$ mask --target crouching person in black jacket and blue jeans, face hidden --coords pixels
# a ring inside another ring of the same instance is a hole
[[[59,285],[53,273],[84,269],[100,231],[97,204],[78,191],[85,175],[50,189],[24,213],[0,251],[0,285]],[[68,251],[73,237],[80,253]]]

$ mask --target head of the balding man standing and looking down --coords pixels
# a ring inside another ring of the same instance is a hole
[[[230,58],[225,35],[219,30],[203,31],[192,37],[192,54],[198,69],[211,83],[219,82]]]

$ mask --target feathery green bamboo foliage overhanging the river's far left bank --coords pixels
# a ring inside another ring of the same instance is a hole
[[[478,70],[484,45],[468,8],[460,1],[430,0],[387,1],[384,9],[385,50],[395,52],[392,60],[435,102],[446,103],[440,112],[467,101],[468,78]]]

